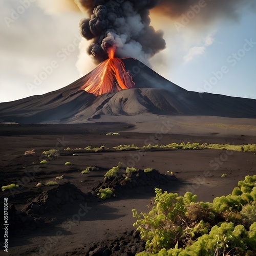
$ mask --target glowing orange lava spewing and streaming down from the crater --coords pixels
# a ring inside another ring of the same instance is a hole
[[[104,93],[113,93],[135,86],[132,77],[124,68],[121,59],[115,58],[115,48],[108,48],[109,59],[101,62],[99,66],[89,73],[89,79],[80,87],[95,96]]]

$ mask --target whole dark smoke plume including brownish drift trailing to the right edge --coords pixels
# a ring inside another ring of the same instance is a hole
[[[96,62],[108,58],[108,47],[115,44],[117,57],[136,57],[144,62],[165,48],[162,31],[150,26],[150,12],[177,20],[204,3],[196,14],[200,26],[219,18],[239,18],[239,10],[255,5],[255,0],[75,0],[90,18],[80,22],[82,36],[91,40],[88,53]],[[191,24],[190,24],[191,26]],[[166,28],[166,24],[163,24]]]

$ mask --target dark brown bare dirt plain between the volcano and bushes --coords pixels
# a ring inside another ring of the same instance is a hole
[[[119,132],[120,135],[106,135],[109,131]],[[246,175],[256,174],[254,153],[209,149],[95,153],[78,150],[78,156],[73,156],[72,151],[64,151],[67,147],[73,149],[104,145],[112,148],[120,144],[142,146],[145,141],[160,145],[172,142],[243,145],[256,144],[256,136],[246,135],[245,131],[241,135],[140,133],[134,132],[133,125],[127,123],[2,124],[0,183],[2,186],[15,183],[19,187],[15,193],[1,191],[1,205],[7,197],[9,206],[25,210],[38,195],[56,187],[36,187],[39,182],[57,181],[64,184],[69,181],[83,193],[88,193],[103,182],[106,171],[117,166],[118,162],[139,169],[154,168],[161,174],[173,172],[177,179],[159,187],[180,195],[191,191],[198,195],[199,201],[209,202],[215,197],[230,194],[238,181]],[[49,160],[48,164],[40,165],[42,152],[54,148],[61,152],[60,156]],[[34,150],[35,154],[24,156],[28,150]],[[64,165],[67,161],[72,165]],[[88,166],[98,166],[99,169],[81,174],[81,170]],[[221,175],[224,173],[227,177],[223,178]],[[61,175],[66,180],[55,180],[56,176]],[[9,248],[5,255],[86,255],[93,245],[114,240],[124,232],[134,230],[132,209],[147,212],[148,204],[153,199],[154,188],[141,186],[127,189],[127,193],[105,201],[88,201],[83,205],[83,215],[79,215],[81,210],[74,204],[69,205],[65,211],[42,215],[45,224],[41,227],[31,230],[9,226]]]

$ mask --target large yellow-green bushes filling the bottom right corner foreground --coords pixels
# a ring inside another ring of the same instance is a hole
[[[163,193],[155,188],[155,203],[148,213],[138,213],[134,226],[146,242],[148,255],[254,255],[256,251],[256,175],[239,181],[232,194],[213,203],[197,196]]]

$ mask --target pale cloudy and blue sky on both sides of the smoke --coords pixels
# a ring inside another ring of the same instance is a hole
[[[55,91],[96,67],[84,44],[79,49],[83,15],[51,15],[39,2],[0,3],[0,102]],[[256,12],[246,6],[238,12],[207,26],[152,14],[166,40],[166,49],[150,59],[152,69],[188,91],[256,99]]]

